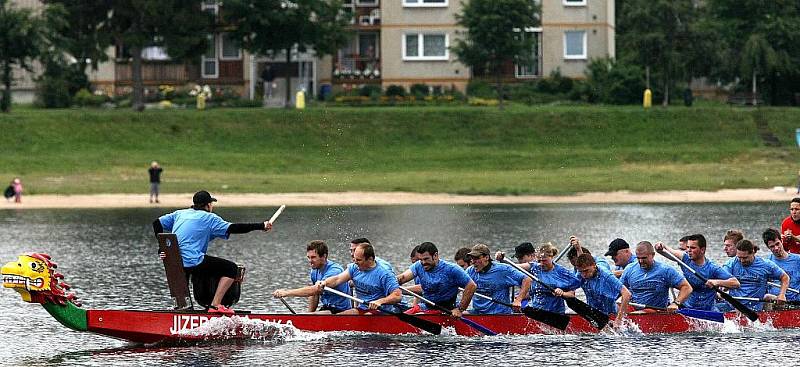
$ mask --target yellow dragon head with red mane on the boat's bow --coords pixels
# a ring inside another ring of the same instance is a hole
[[[57,267],[47,254],[20,255],[17,261],[7,263],[0,270],[3,287],[19,292],[25,302],[77,304],[77,297],[67,293],[70,286],[62,281],[64,276],[55,271]]]

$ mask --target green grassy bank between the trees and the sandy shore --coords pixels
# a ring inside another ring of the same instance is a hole
[[[17,109],[0,126],[0,179],[27,193],[146,192],[152,160],[165,192],[716,190],[800,169],[797,108]]]

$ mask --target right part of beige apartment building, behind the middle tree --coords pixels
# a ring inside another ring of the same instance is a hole
[[[461,0],[347,0],[354,16],[351,42],[323,59],[320,83],[347,88],[425,83],[464,90],[472,78],[483,77],[458,62],[449,46],[463,34],[455,15]],[[542,0],[539,26],[522,26],[533,37],[533,60],[509,63],[506,81],[547,76],[555,70],[572,78],[584,77],[592,58],[614,57],[613,0]],[[509,9],[513,11],[513,9]]]

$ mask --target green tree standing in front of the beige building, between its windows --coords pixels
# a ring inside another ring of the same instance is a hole
[[[523,35],[525,27],[540,25],[539,2],[471,0],[463,4],[456,20],[466,34],[454,42],[451,50],[473,70],[487,70],[494,76],[503,108],[503,65],[530,61],[534,39]]]

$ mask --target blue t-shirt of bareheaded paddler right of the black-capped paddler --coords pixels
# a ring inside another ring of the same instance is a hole
[[[658,261],[650,270],[636,264],[628,265],[619,280],[631,291],[631,302],[653,307],[669,305],[669,289],[678,287],[685,278],[674,268]]]

